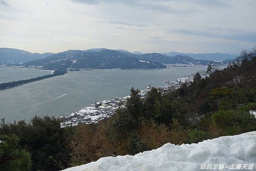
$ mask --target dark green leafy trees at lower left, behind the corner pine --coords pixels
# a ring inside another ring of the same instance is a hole
[[[0,134],[15,134],[19,145],[30,152],[32,170],[58,171],[68,166],[67,137],[73,130],[62,129],[58,119],[35,116],[30,123],[24,121],[0,125]]]

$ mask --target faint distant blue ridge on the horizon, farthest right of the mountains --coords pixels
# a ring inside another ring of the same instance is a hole
[[[180,52],[163,52],[161,53],[167,56],[175,55],[185,55],[197,60],[206,60],[206,61],[225,61],[235,59],[237,55],[227,54],[227,53],[180,53]]]

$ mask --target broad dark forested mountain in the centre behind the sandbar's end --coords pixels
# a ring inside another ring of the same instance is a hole
[[[73,69],[157,69],[166,68],[163,64],[157,62],[139,60],[133,56],[125,55],[116,50],[103,49],[100,51],[82,51],[82,50],[68,50],[47,58],[30,61],[24,65],[41,66],[50,70],[66,70]]]

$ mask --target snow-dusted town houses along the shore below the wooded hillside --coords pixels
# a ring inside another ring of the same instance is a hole
[[[165,86],[157,86],[158,90],[165,92],[167,90],[175,90],[180,87],[182,81],[165,81],[168,83]],[[140,91],[140,95],[142,98],[145,98],[147,92],[152,87],[149,86],[145,90]],[[69,116],[61,116],[59,120],[61,121],[61,127],[66,126],[75,126],[79,124],[91,124],[97,123],[102,119],[106,119],[111,117],[120,104],[125,105],[126,99],[130,96],[125,96],[122,98],[114,98],[111,100],[104,100],[101,102],[94,102],[90,104],[88,107],[84,107],[83,109],[77,111],[76,113],[71,113]]]

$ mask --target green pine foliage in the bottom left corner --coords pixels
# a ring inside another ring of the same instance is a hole
[[[1,171],[30,171],[30,154],[19,148],[17,136],[0,136]]]

